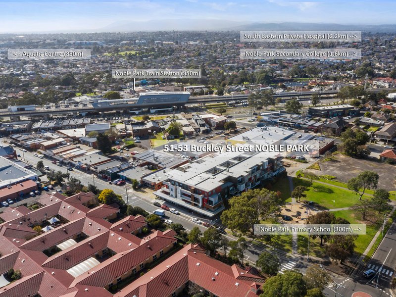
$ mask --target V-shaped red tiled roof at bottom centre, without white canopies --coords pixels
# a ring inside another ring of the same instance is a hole
[[[121,289],[114,297],[174,297],[189,284],[205,296],[258,296],[264,279],[208,257],[205,250],[189,244],[145,275]]]

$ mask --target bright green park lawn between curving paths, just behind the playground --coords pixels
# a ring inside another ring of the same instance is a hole
[[[299,178],[294,178],[293,183],[295,187],[307,187],[308,191],[305,192],[307,195],[305,199],[314,201],[325,209],[349,207],[356,204],[359,200],[356,194],[348,190],[332,187],[331,185],[327,186],[314,182],[312,187],[308,187],[308,181]]]

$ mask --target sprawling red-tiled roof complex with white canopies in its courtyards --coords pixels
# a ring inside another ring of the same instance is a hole
[[[173,230],[139,238],[133,234],[147,227],[143,216],[111,224],[103,217],[119,210],[78,203],[89,200],[84,193],[53,195],[42,198],[47,205],[34,211],[9,208],[0,224],[0,273],[19,269],[22,278],[1,287],[0,297],[111,297],[106,289],[134,278],[176,245]],[[67,223],[40,235],[31,228],[55,215]]]

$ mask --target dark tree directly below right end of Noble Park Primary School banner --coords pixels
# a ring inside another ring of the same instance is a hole
[[[353,254],[357,235],[332,235],[327,246],[328,255],[343,264],[349,255]]]

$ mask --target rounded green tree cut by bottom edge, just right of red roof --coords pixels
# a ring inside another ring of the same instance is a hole
[[[262,290],[260,297],[304,297],[306,285],[301,273],[287,270],[267,279]]]

